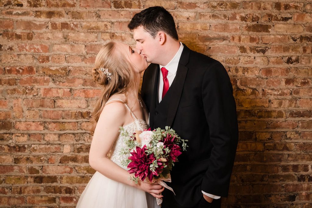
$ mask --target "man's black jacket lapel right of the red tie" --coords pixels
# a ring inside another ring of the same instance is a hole
[[[167,126],[172,125],[174,117],[178,110],[178,105],[180,103],[186,74],[188,72],[188,67],[186,67],[185,65],[188,63],[189,55],[190,55],[190,49],[184,45],[184,48],[183,48],[183,51],[179,60],[175,80],[173,81],[173,84],[170,86],[170,88],[172,88],[171,89],[172,93],[171,93],[171,98],[170,98],[170,102],[168,106],[168,116],[167,116],[167,121],[166,121]],[[159,71],[159,67],[158,67],[158,71]]]

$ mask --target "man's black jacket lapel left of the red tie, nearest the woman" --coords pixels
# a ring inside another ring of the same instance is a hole
[[[149,126],[153,128],[154,125],[154,113],[156,108],[156,102],[158,97],[158,75],[159,75],[159,65],[154,64],[153,68],[153,75],[152,75],[152,90],[151,90],[151,104],[150,104],[150,111],[149,111]]]

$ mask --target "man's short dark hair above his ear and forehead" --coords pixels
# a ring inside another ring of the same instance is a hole
[[[163,7],[149,7],[132,17],[128,28],[134,30],[139,26],[155,38],[159,31],[164,31],[173,39],[178,40],[178,33],[172,15]]]

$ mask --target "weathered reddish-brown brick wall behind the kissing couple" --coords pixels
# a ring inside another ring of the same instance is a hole
[[[92,170],[90,69],[162,5],[180,40],[222,62],[240,142],[224,207],[312,207],[312,1],[0,1],[0,207],[73,207]]]

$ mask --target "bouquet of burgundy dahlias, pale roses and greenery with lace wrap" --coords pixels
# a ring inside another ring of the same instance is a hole
[[[123,127],[119,127],[121,136],[127,148],[121,150],[121,154],[131,155],[122,163],[127,166],[129,173],[134,173],[131,179],[138,183],[138,180],[158,184],[173,191],[164,181],[171,182],[170,171],[174,162],[178,161],[178,156],[188,147],[173,129],[166,126],[165,129],[144,130],[134,133],[127,132]],[[174,191],[173,191],[174,193]],[[160,205],[162,199],[157,199]]]

